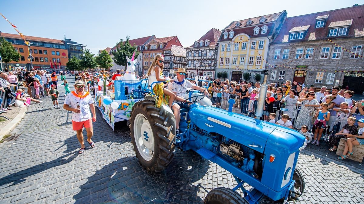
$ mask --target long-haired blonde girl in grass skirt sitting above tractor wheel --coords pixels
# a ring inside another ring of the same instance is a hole
[[[149,69],[148,69],[148,72],[147,72],[147,75],[148,76],[154,76],[157,81],[165,81],[165,82],[169,82],[169,81],[174,81],[173,79],[169,79],[169,78],[164,78],[163,77],[163,67],[164,67],[164,56],[161,55],[161,54],[157,54],[152,62],[152,64],[150,65]],[[157,87],[159,86],[159,87]],[[163,83],[159,83],[157,85],[154,86],[153,88],[153,92],[156,93],[158,92],[157,89],[163,89],[163,93],[166,94],[167,96],[169,96],[169,99],[168,99],[168,106],[170,108],[172,108],[172,103],[173,103],[173,100],[174,98],[176,97],[176,94],[174,94],[172,91],[166,89],[163,87]],[[157,93],[159,98],[158,98],[158,102],[155,104],[157,107],[161,106],[162,105],[162,102],[163,102],[163,93]],[[168,98],[168,97],[167,97]],[[165,98],[165,102],[167,100],[167,98]]]

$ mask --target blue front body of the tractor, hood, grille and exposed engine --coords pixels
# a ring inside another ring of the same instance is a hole
[[[297,131],[209,106],[193,104],[181,150],[194,150],[273,200],[288,196],[305,138]],[[183,119],[182,119],[183,121]]]

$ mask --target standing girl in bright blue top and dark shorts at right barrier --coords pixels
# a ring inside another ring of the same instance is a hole
[[[329,105],[327,103],[321,103],[321,110],[316,112],[315,115],[315,122],[313,123],[315,134],[313,136],[313,140],[311,141],[311,144],[316,144],[317,146],[320,146],[320,139],[322,132],[326,128],[326,123],[330,119],[330,112],[328,111]],[[317,138],[317,140],[316,140]]]

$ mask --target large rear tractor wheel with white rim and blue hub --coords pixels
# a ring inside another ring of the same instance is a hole
[[[155,101],[135,103],[130,113],[134,151],[147,171],[159,173],[172,161],[175,141],[173,114],[155,107]]]

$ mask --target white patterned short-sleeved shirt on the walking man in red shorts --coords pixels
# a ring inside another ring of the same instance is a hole
[[[64,104],[70,105],[71,108],[77,108],[77,102],[79,102],[81,113],[72,112],[72,121],[82,122],[92,118],[90,104],[94,103],[94,99],[91,94],[88,94],[85,98],[79,98],[70,93],[64,99]]]

